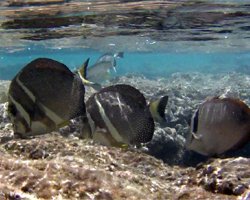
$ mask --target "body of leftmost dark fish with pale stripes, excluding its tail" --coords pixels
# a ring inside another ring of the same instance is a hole
[[[8,113],[14,135],[48,133],[85,116],[84,94],[82,80],[66,65],[48,58],[33,60],[10,84]]]

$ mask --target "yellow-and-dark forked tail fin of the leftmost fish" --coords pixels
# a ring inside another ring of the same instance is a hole
[[[77,70],[79,77],[81,78],[84,85],[91,86],[95,90],[100,90],[102,86],[98,83],[91,82],[87,79],[87,67],[89,64],[89,58],[82,64],[82,66]]]

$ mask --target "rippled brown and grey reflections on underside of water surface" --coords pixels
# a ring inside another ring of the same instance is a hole
[[[173,42],[187,49],[190,44],[249,49],[248,1],[8,0],[0,5],[0,44],[12,50],[32,41],[94,49],[108,43],[107,50],[128,51],[169,50]]]

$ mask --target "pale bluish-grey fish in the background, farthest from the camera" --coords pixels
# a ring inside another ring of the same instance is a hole
[[[87,79],[91,82],[101,84],[102,82],[110,79],[111,68],[113,68],[113,70],[116,72],[116,58],[123,58],[123,52],[118,52],[115,54],[106,53],[90,67],[88,67],[88,59],[81,67],[84,68],[82,71],[82,76],[87,77]]]

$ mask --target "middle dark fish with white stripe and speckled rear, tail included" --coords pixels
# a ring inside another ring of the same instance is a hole
[[[154,117],[165,120],[168,97],[147,104],[136,88],[118,84],[101,89],[86,102],[85,138],[107,146],[139,145],[154,133]],[[157,117],[156,117],[157,116]]]

